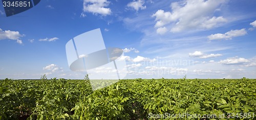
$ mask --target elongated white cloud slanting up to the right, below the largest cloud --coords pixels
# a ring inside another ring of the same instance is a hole
[[[224,34],[217,33],[217,34],[211,34],[208,36],[209,40],[216,40],[216,39],[232,39],[233,37],[238,37],[238,36],[244,36],[246,35],[247,32],[245,29],[241,30],[231,30],[228,31]]]

